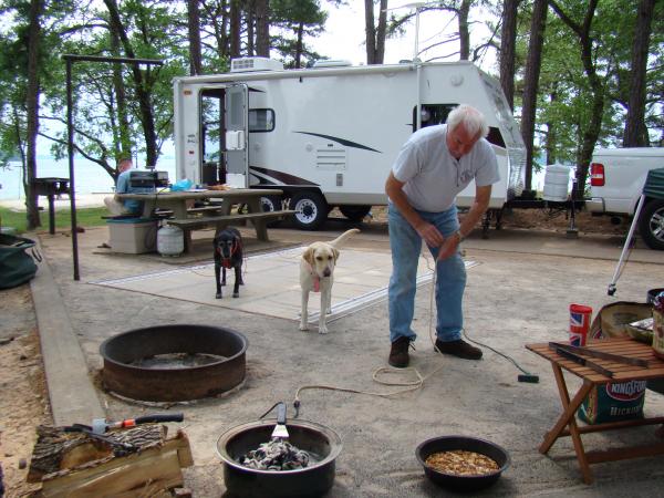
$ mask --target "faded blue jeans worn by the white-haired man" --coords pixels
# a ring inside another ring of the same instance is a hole
[[[443,212],[417,211],[419,216],[434,225],[444,237],[459,228],[456,206]],[[390,246],[392,248],[392,277],[390,278],[390,341],[401,336],[415,339],[417,334],[411,328],[415,310],[415,289],[417,266],[422,251],[422,237],[404,218],[396,206],[388,206]],[[438,248],[429,247],[434,257]],[[436,335],[443,342],[461,338],[464,314],[461,301],[466,288],[466,267],[461,256],[456,252],[436,264]]]

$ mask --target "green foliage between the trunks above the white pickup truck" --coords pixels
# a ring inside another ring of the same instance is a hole
[[[583,22],[587,2],[559,0],[561,8],[577,22]],[[602,127],[596,146],[621,146],[630,92],[632,42],[636,22],[636,1],[600,0],[592,19],[592,62],[604,93]],[[649,70],[649,108],[646,122],[651,137],[662,134],[661,108],[664,104],[662,87],[662,50],[664,48],[664,4],[658,2],[658,14],[653,18],[651,69]],[[523,13],[523,12],[522,12]],[[528,22],[519,23],[518,52],[527,49],[530,37]],[[517,83],[517,87],[520,84]],[[520,105],[518,102],[516,105]],[[544,32],[542,66],[538,92],[537,144],[552,141],[556,159],[575,164],[583,135],[590,124],[592,89],[581,63],[579,39],[561,19],[549,9]]]

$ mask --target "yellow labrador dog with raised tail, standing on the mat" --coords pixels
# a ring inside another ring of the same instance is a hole
[[[344,231],[330,242],[312,242],[300,260],[300,287],[302,288],[302,313],[300,330],[309,330],[309,293],[321,293],[321,311],[319,319],[319,333],[326,334],[325,317],[332,310],[332,283],[336,259],[339,258],[339,246],[353,234],[360,230],[353,228]]]

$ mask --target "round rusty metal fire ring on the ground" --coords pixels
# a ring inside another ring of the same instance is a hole
[[[240,384],[249,343],[239,332],[207,325],[159,325],[135,329],[105,340],[104,387],[132,400],[178,402],[215,396]],[[145,367],[135,363],[169,354],[210,355],[196,366]]]

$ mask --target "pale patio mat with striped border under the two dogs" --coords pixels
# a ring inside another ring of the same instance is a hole
[[[227,272],[224,298],[215,298],[214,263],[90,283],[298,321],[303,251],[304,247],[299,247],[248,256],[242,272],[245,284],[240,287],[237,299],[230,295],[235,282],[235,274],[230,271]],[[421,258],[418,286],[430,282],[430,258]],[[466,262],[467,268],[473,266],[471,261]],[[328,321],[386,299],[391,271],[388,253],[343,250],[334,271],[332,313]],[[309,301],[309,322],[315,323],[320,315],[320,294],[311,293]]]

